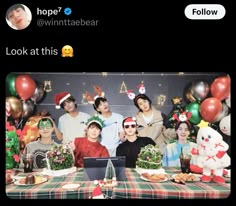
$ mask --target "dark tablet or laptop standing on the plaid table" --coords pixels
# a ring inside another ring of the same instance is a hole
[[[117,157],[84,157],[84,173],[83,180],[103,180],[106,173],[108,160],[111,160],[115,171],[117,181],[126,180],[125,174],[125,156]]]

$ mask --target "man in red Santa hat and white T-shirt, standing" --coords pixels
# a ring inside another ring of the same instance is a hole
[[[65,114],[59,117],[58,128],[55,133],[63,143],[73,141],[75,137],[86,136],[85,122],[91,115],[81,112],[77,108],[76,99],[69,92],[61,92],[54,96],[56,109],[64,109]]]

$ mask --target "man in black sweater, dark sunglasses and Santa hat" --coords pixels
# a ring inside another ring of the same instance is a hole
[[[137,122],[135,117],[126,117],[122,122],[122,126],[126,141],[117,147],[116,156],[125,156],[126,167],[135,168],[141,148],[149,144],[155,146],[156,143],[150,137],[137,136]]]

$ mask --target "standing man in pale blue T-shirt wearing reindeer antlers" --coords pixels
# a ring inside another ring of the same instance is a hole
[[[93,104],[98,116],[104,121],[105,127],[101,133],[101,144],[104,145],[111,157],[116,156],[116,148],[124,139],[122,128],[123,115],[112,112],[105,97],[97,97]]]

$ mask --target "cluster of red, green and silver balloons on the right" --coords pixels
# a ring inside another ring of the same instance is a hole
[[[226,102],[223,102],[229,96],[229,76],[216,78],[210,86],[204,81],[192,83],[185,93],[190,102],[185,106],[185,110],[192,113],[190,122],[195,125],[201,120],[209,123],[219,122],[229,112]]]

